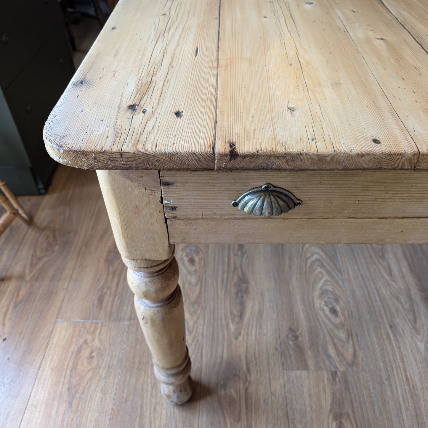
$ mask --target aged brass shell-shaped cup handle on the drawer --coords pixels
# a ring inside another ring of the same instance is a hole
[[[247,214],[270,217],[280,215],[302,205],[302,201],[288,190],[264,184],[242,193],[238,199],[232,201],[232,206],[243,210]]]

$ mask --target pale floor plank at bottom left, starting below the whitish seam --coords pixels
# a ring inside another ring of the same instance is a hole
[[[127,329],[57,322],[21,427],[108,427]]]

